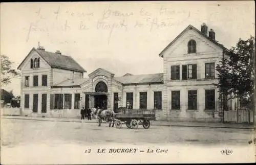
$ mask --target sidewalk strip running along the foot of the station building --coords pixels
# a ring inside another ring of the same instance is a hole
[[[19,119],[19,120],[35,120],[35,121],[51,121],[51,122],[75,122],[80,123],[80,119],[67,118],[51,118],[51,117],[26,117],[26,116],[9,116],[2,115],[3,119]],[[95,119],[91,121],[85,120],[84,123],[97,123]],[[173,126],[173,127],[206,127],[206,128],[234,128],[234,129],[254,129],[253,125],[248,124],[232,124],[232,123],[203,123],[203,122],[167,122],[167,121],[151,121],[151,125],[155,126]]]

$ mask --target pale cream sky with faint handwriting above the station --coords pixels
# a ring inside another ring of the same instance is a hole
[[[254,1],[1,3],[1,55],[17,67],[44,46],[73,57],[88,74],[163,72],[159,53],[188,25],[203,22],[227,49],[255,36]],[[20,80],[3,86],[20,93]]]

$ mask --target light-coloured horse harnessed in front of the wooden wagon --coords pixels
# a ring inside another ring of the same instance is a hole
[[[112,127],[114,127],[115,124],[115,112],[110,109],[96,109],[92,108],[92,114],[96,115],[96,118],[98,119],[99,125],[101,125],[102,120],[104,120],[106,123],[109,123],[109,127],[111,126],[111,123],[113,122]]]

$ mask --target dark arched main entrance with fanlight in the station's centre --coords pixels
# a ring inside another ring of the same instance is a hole
[[[94,96],[94,107],[107,109],[108,107],[108,97],[106,96],[106,92],[108,92],[108,86],[100,81],[95,86],[96,95]],[[98,92],[98,94],[97,94]]]

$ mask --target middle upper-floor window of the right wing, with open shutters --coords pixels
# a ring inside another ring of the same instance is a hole
[[[182,80],[197,79],[197,64],[182,65]]]

